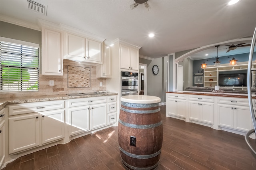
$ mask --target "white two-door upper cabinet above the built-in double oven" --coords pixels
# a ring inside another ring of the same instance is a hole
[[[120,44],[120,68],[139,70],[139,49]]]

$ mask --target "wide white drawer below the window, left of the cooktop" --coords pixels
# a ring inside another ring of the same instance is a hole
[[[9,116],[65,108],[64,100],[14,104],[9,107]]]

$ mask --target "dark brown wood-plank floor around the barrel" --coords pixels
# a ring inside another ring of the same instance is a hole
[[[158,170],[256,170],[244,136],[165,116]],[[256,146],[256,141],[251,140]],[[7,164],[3,170],[124,170],[117,127],[59,144]]]

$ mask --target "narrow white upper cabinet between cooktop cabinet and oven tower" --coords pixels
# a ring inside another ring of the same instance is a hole
[[[103,45],[103,64],[96,67],[97,78],[111,78],[111,47]]]

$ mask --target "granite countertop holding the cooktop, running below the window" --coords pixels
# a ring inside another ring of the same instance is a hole
[[[30,102],[43,102],[43,101],[53,101],[53,100],[66,100],[73,98],[88,98],[88,97],[98,97],[98,96],[112,96],[118,93],[107,92],[100,94],[89,93],[83,96],[68,96],[66,94],[59,95],[47,95],[47,96],[26,96],[17,98],[1,98],[0,99],[0,110],[4,108],[7,104],[19,104],[19,103],[30,103]]]

